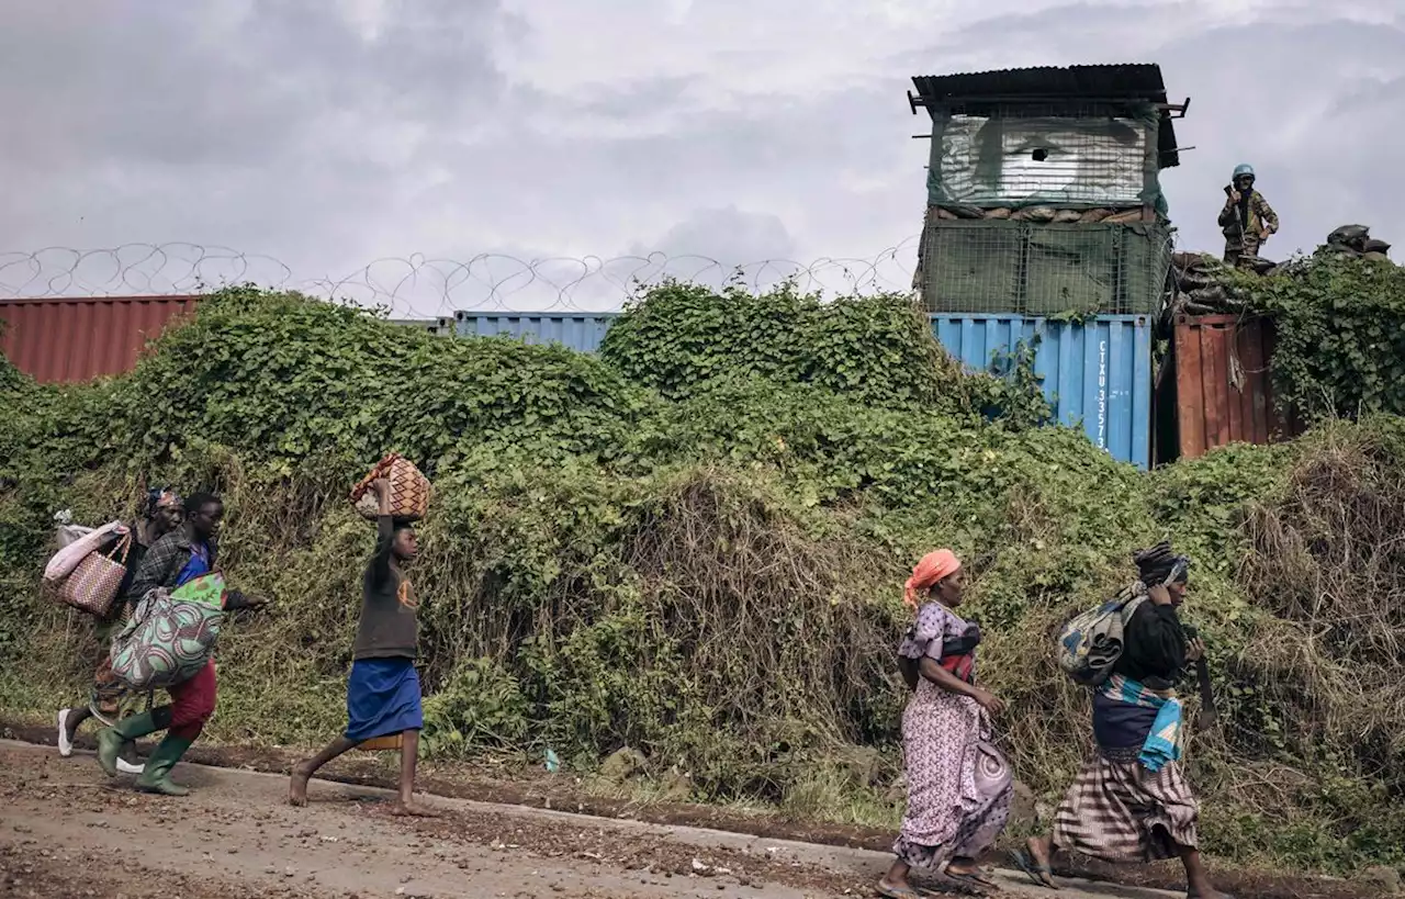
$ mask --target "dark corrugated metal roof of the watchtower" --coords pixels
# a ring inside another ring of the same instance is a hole
[[[917,96],[934,105],[971,100],[1127,100],[1166,103],[1166,83],[1156,63],[1113,63],[1093,66],[1035,66],[996,69],[960,74],[917,74],[912,79]],[[932,112],[932,107],[927,110]],[[974,111],[974,110],[972,110]],[[1161,160],[1179,166],[1176,129],[1170,114],[1161,118]]]

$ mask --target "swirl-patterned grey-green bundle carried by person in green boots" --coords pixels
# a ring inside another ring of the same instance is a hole
[[[166,688],[200,673],[225,621],[225,577],[211,572],[148,593],[112,638],[112,673],[133,690]]]

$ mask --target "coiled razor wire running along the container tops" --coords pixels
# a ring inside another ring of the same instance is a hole
[[[610,312],[666,280],[763,291],[792,281],[825,296],[908,292],[919,237],[867,258],[762,260],[728,264],[705,256],[468,260],[384,257],[346,277],[301,277],[278,258],[195,243],[128,243],[98,250],[0,251],[0,299],[156,296],[254,284],[386,309],[392,317],[450,317],[458,310]]]

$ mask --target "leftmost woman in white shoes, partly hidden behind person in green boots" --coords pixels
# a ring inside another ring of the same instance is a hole
[[[140,704],[142,695],[133,693],[112,674],[112,662],[108,649],[112,635],[122,629],[132,614],[132,607],[140,597],[129,596],[132,579],[140,567],[146,551],[156,545],[162,537],[180,527],[185,517],[181,499],[170,487],[157,487],[146,492],[140,517],[132,523],[132,544],[126,551],[126,575],[117,590],[117,601],[107,615],[97,622],[96,634],[98,648],[103,653],[93,673],[93,687],[89,701],[80,708],[59,709],[59,754],[67,759],[73,754],[73,737],[79,726],[89,718],[97,718],[104,728],[111,728],[117,722],[131,715]],[[122,757],[117,763],[122,774],[140,774],[142,766],[136,764],[136,746],[126,743],[122,747]]]

